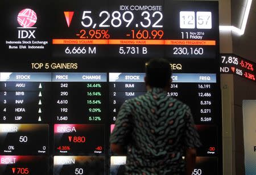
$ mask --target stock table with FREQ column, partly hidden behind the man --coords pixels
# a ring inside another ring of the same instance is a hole
[[[144,73],[110,73],[110,108],[112,121],[125,100],[146,92]],[[167,95],[191,106],[198,124],[214,123],[216,74],[173,74]]]

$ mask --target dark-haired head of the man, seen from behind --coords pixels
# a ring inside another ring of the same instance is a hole
[[[167,59],[154,58],[146,64],[146,86],[165,88],[171,83],[171,65]]]

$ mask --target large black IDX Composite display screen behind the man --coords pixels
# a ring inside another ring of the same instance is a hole
[[[0,5],[0,174],[123,174],[109,136],[122,103],[146,92],[150,58],[171,62],[167,95],[191,107],[193,174],[222,174],[218,2]]]

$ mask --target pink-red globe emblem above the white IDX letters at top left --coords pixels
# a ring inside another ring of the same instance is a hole
[[[32,27],[35,25],[37,19],[35,11],[30,8],[20,11],[17,17],[18,23],[22,27]]]

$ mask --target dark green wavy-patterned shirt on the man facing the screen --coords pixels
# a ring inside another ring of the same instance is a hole
[[[127,147],[126,174],[169,174],[185,170],[186,148],[200,147],[191,110],[152,88],[119,110],[110,143]]]

